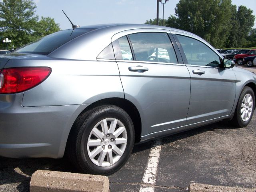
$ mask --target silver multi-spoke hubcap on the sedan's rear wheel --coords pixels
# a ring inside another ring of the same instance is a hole
[[[106,118],[98,122],[90,132],[88,156],[98,166],[110,166],[121,158],[126,144],[127,132],[124,124],[118,119]]]

